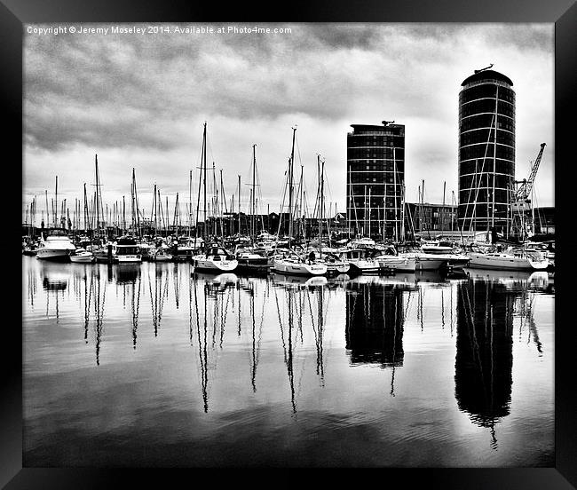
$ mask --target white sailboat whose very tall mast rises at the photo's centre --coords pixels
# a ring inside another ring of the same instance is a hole
[[[273,258],[273,271],[282,274],[292,275],[325,275],[327,265],[318,263],[314,260],[314,253],[305,260],[298,255],[294,249],[291,249],[293,239],[293,163],[295,159],[295,134],[296,127],[293,128],[292,150],[288,161],[288,252],[279,257]]]

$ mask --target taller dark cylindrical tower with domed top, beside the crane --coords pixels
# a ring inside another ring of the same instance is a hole
[[[464,232],[510,230],[515,185],[515,91],[483,69],[459,92],[459,225]]]

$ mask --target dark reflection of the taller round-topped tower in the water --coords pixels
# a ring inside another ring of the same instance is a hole
[[[464,281],[458,286],[454,395],[472,423],[491,430],[510,414],[513,313],[522,288],[503,281]]]

